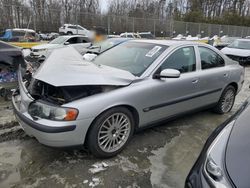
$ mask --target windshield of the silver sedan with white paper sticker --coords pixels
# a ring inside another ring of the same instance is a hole
[[[93,63],[126,70],[140,76],[165,49],[167,46],[164,45],[126,42],[97,56]]]

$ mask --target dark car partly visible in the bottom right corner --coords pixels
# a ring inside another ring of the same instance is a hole
[[[186,188],[249,187],[250,100],[208,138],[186,179]]]

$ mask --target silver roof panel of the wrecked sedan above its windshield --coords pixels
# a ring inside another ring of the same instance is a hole
[[[199,42],[193,41],[183,41],[183,40],[151,40],[151,39],[136,39],[133,42],[142,42],[142,43],[152,43],[152,44],[159,44],[165,46],[179,46],[179,45],[196,45],[196,44],[203,44]]]

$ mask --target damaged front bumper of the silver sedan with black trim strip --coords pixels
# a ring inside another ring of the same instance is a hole
[[[14,114],[24,131],[35,137],[40,143],[52,147],[83,145],[87,130],[93,118],[74,121],[54,121],[34,119],[28,113],[29,105],[34,99],[26,90],[19,72],[19,89],[12,96]]]

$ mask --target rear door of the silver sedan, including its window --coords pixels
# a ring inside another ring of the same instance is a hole
[[[225,60],[211,48],[198,46],[200,71],[200,88],[204,91],[201,100],[206,104],[217,103],[223,88],[226,86],[229,71],[225,68]]]

